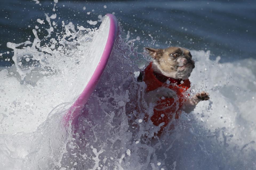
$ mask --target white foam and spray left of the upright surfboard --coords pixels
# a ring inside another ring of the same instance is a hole
[[[69,28],[72,29],[71,23],[66,27]],[[33,43],[7,43],[14,50],[15,65],[0,71],[4,80],[0,96],[6,96],[1,97],[0,106],[3,168],[60,166],[66,143],[72,140],[71,127],[63,126],[61,120],[79,95],[73,92],[77,78],[74,75],[87,57],[95,31],[81,26],[78,31],[66,31],[68,35],[60,35],[58,41],[51,39],[43,46],[33,31],[36,37]],[[76,42],[72,37],[76,37]]]

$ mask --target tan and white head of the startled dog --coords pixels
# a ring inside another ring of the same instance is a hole
[[[195,62],[189,50],[182,47],[168,47],[166,49],[146,48],[154,58],[161,74],[174,79],[189,78],[195,68]]]

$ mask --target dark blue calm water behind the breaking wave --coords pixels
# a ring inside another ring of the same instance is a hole
[[[140,37],[138,50],[151,44],[149,34],[156,41],[151,47],[166,48],[183,46],[194,50],[210,50],[211,57],[221,56],[221,61],[236,61],[256,58],[256,1],[61,1],[53,12],[53,1],[0,0],[0,66],[9,66],[12,61],[8,41],[21,43],[29,36],[33,41],[32,29],[40,27],[37,19],[44,13],[56,13],[58,24],[73,22],[93,28],[87,20],[98,20],[98,15],[115,12],[124,30],[131,37]],[[64,6],[63,6],[64,5]],[[106,8],[103,6],[106,5]],[[86,10],[83,10],[83,7]],[[94,12],[92,12],[94,10]],[[86,13],[91,11],[90,15]],[[58,17],[60,17],[58,19]],[[46,22],[46,20],[45,20]],[[47,22],[46,22],[47,23]],[[95,27],[99,27],[99,22]],[[30,25],[30,27],[28,27]],[[47,24],[45,24],[48,28]],[[135,31],[136,30],[136,31]],[[44,34],[45,33],[45,34]],[[39,38],[46,35],[39,34]],[[55,35],[52,35],[54,37]],[[171,42],[171,43],[170,43]],[[4,54],[9,51],[10,54]]]

